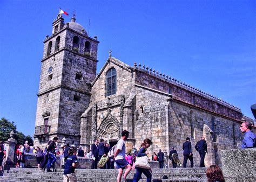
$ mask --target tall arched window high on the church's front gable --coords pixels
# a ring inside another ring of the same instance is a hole
[[[117,92],[117,71],[114,68],[106,73],[106,96],[114,95]]]

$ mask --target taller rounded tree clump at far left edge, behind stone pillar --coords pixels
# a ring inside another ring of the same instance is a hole
[[[14,124],[14,122],[10,122],[4,117],[2,117],[0,120],[0,126],[0,141],[7,141],[7,139],[10,138],[11,130],[14,130],[14,132],[16,132],[16,125]]]

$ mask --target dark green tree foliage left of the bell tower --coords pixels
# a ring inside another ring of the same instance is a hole
[[[13,130],[15,132],[14,138],[16,139],[18,144],[24,144],[25,141],[29,141],[29,145],[33,145],[33,139],[30,135],[25,136],[22,132],[17,131],[17,127],[14,122],[10,122],[6,120],[6,118],[2,117],[0,120],[0,141],[7,141],[10,138],[10,132]]]

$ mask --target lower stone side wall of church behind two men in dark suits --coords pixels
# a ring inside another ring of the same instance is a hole
[[[206,136],[208,133],[208,153],[206,154],[207,164],[221,165],[220,151],[225,149],[235,149],[241,144],[242,134],[239,131],[240,123],[235,120],[227,120],[225,117],[213,115],[210,112],[199,110],[190,107],[186,104],[171,101],[169,104],[169,146],[174,146],[178,151],[179,156],[183,156],[182,145],[186,137],[191,138],[192,153],[194,158],[194,166],[199,166],[200,156],[194,149],[197,141],[201,136]],[[212,124],[215,124],[215,128]],[[204,125],[207,125],[210,130],[215,130],[216,141],[213,142],[213,132],[204,131]],[[234,125],[234,131],[233,126]],[[206,139],[207,140],[207,139]],[[236,145],[234,145],[236,141]],[[212,148],[210,148],[212,147]],[[170,150],[170,149],[169,149]],[[209,156],[208,156],[209,155]],[[211,155],[214,159],[211,159]],[[181,157],[183,161],[183,157]]]

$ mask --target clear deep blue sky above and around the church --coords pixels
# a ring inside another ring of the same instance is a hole
[[[141,63],[241,108],[256,103],[256,1],[0,1],[0,117],[33,135],[43,40],[58,9],[112,56]],[[90,28],[89,28],[90,22]]]

